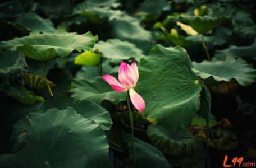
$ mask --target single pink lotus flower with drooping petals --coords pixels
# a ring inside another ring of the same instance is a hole
[[[132,104],[139,112],[144,110],[144,99],[133,89],[139,80],[139,71],[135,62],[132,62],[131,66],[125,62],[121,62],[118,72],[119,81],[109,74],[103,75],[102,78],[117,92],[129,90]]]

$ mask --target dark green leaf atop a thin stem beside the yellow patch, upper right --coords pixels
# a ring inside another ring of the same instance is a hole
[[[211,31],[223,21],[223,17],[180,15],[177,20],[190,25],[199,34]]]

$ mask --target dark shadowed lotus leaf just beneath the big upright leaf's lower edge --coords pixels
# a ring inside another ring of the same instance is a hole
[[[188,130],[166,130],[159,125],[149,125],[147,135],[154,146],[172,155],[189,154],[196,148],[196,141]]]

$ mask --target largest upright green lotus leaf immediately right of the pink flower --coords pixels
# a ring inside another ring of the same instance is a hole
[[[145,100],[145,118],[168,129],[188,127],[200,107],[201,86],[186,50],[155,45],[139,73],[135,90]]]

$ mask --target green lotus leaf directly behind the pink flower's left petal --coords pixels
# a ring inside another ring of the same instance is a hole
[[[71,84],[72,97],[75,99],[86,99],[100,104],[103,100],[118,103],[126,100],[125,92],[116,92],[101,77],[94,79],[76,78]]]

